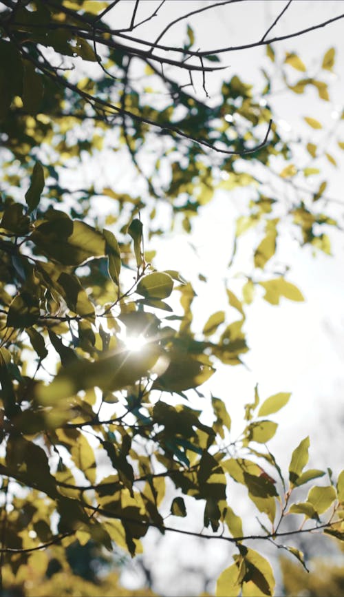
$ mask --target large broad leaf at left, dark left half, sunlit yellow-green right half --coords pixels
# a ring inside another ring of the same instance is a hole
[[[62,211],[48,211],[30,236],[36,247],[62,265],[80,265],[105,255],[105,238],[89,224]]]

